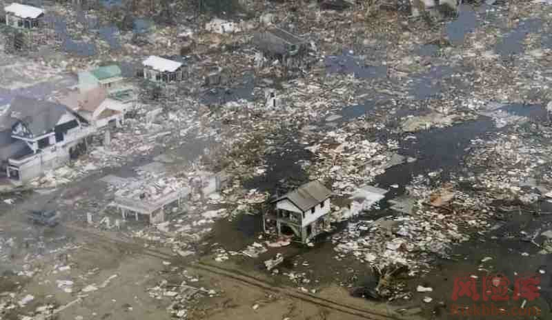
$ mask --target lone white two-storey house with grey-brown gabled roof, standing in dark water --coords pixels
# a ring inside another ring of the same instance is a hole
[[[311,181],[272,201],[275,214],[265,221],[276,221],[278,235],[294,234],[306,243],[330,226],[330,197],[331,191],[322,183]]]

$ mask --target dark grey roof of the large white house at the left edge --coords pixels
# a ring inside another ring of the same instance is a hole
[[[10,117],[23,122],[34,137],[54,130],[59,119],[68,112],[72,114],[59,103],[21,96],[12,100],[8,110]]]

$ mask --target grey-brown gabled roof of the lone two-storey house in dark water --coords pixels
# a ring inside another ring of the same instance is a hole
[[[273,202],[288,199],[303,212],[314,208],[319,203],[328,199],[332,192],[319,181],[311,181],[299,188],[284,194]]]

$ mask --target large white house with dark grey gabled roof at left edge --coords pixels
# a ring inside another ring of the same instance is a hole
[[[27,97],[12,100],[0,128],[1,170],[19,183],[77,157],[94,131],[66,106]]]

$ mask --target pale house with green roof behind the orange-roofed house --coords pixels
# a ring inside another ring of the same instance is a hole
[[[79,90],[86,92],[97,87],[107,92],[117,92],[122,89],[124,78],[121,68],[117,65],[103,66],[90,71],[79,72]]]

